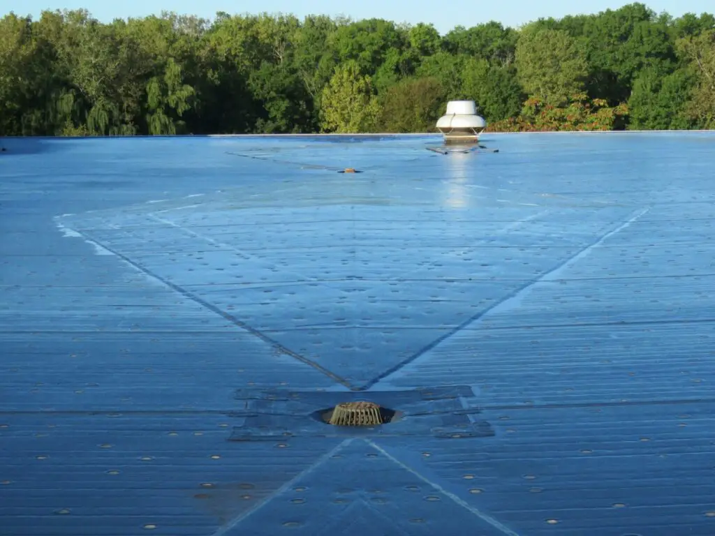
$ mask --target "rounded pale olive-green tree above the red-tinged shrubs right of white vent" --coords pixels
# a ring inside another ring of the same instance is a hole
[[[557,106],[582,91],[588,74],[583,49],[563,30],[523,29],[516,66],[529,95]]]

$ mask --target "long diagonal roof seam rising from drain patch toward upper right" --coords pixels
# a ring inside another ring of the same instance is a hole
[[[508,302],[508,300],[513,299],[514,297],[518,296],[522,292],[525,292],[527,289],[533,287],[533,285],[537,284],[538,282],[548,280],[548,277],[551,274],[553,274],[554,272],[558,271],[559,269],[561,269],[563,267],[566,267],[566,265],[568,265],[568,263],[570,263],[570,262],[573,262],[573,260],[578,259],[579,257],[582,257],[584,254],[588,253],[591,249],[598,246],[598,244],[601,244],[601,242],[603,242],[604,240],[613,236],[613,234],[616,234],[617,232],[620,232],[621,230],[625,229],[626,227],[628,227],[628,225],[635,222],[638,218],[640,218],[641,216],[646,214],[646,212],[648,212],[649,210],[650,210],[650,207],[647,207],[645,209],[640,209],[640,210],[631,212],[631,217],[626,219],[624,222],[619,222],[618,225],[613,226],[610,230],[608,230],[608,232],[605,232],[605,233],[599,235],[593,242],[588,244],[586,247],[579,249],[578,252],[571,255],[571,257],[568,257],[567,259],[563,260],[562,262],[559,262],[558,264],[556,264],[556,266],[554,266],[548,272],[541,274],[538,277],[535,277],[534,279],[529,280],[528,282],[526,282],[526,284],[523,284],[523,285],[521,285],[521,287],[518,287],[517,289],[513,290],[512,292],[509,292],[504,297],[502,297],[502,299],[498,300],[498,302],[491,304],[490,307],[488,307],[487,309],[484,309],[483,311],[473,314],[471,317],[466,319],[460,325],[458,325],[454,329],[451,329],[449,332],[443,334],[441,337],[438,337],[437,339],[433,340],[433,342],[430,342],[430,344],[427,344],[425,347],[418,350],[418,352],[415,352],[415,354],[412,354],[410,357],[408,357],[407,359],[404,359],[402,362],[396,364],[394,367],[391,367],[390,369],[383,372],[382,374],[374,377],[373,379],[370,379],[369,382],[360,386],[360,388],[358,390],[364,391],[364,390],[370,389],[370,387],[373,387],[373,385],[375,385],[376,383],[382,381],[383,379],[390,376],[391,374],[395,374],[395,372],[398,372],[400,369],[403,369],[403,367],[405,367],[408,364],[410,364],[411,362],[415,361],[415,359],[422,357],[424,354],[429,352],[431,349],[438,346],[438,344],[441,344],[446,339],[449,339],[450,337],[453,337],[455,334],[463,331],[463,329],[470,326],[470,324],[473,324],[474,322],[477,322],[478,320],[482,319],[487,314],[489,314],[491,311],[493,311],[493,309],[495,309],[496,307],[499,307],[501,304],[504,304],[505,302]]]

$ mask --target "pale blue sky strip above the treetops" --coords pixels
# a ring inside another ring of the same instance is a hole
[[[84,7],[101,21],[127,16],[159,14],[162,9],[180,14],[194,14],[212,18],[216,11],[228,13],[258,13],[261,11],[306,14],[347,15],[355,19],[378,17],[396,22],[430,22],[445,33],[454,26],[474,26],[490,20],[500,21],[508,26],[518,26],[541,16],[561,17],[567,14],[596,13],[604,9],[617,9],[628,1],[589,0],[577,3],[568,0],[359,0],[339,2],[335,0],[0,0],[0,14],[15,11],[16,14],[39,16],[44,9],[77,9]],[[713,0],[653,0],[644,1],[654,11],[668,11],[674,16],[686,12],[700,14],[713,13]],[[11,5],[15,4],[15,5]]]

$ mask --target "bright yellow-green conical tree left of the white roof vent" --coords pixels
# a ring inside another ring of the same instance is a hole
[[[360,73],[356,61],[340,65],[322,91],[322,130],[339,133],[374,131],[380,105],[370,76]]]

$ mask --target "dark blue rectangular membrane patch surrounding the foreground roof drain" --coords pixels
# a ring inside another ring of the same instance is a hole
[[[227,415],[238,420],[230,441],[280,441],[277,446],[286,447],[292,437],[495,435],[479,419],[468,385],[369,393],[239,389],[236,398],[242,409]]]

